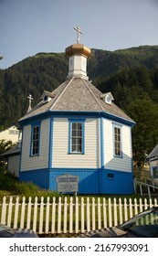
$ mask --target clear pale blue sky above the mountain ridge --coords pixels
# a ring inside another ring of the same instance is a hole
[[[158,0],[0,0],[0,69],[77,43],[116,50],[158,45]]]

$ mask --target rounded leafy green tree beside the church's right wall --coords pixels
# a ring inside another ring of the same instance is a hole
[[[126,111],[136,122],[132,129],[133,160],[138,167],[158,143],[158,105],[150,99],[133,101]]]

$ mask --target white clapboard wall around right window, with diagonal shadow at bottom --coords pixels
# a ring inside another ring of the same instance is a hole
[[[109,120],[104,119],[104,165],[107,169],[131,172],[132,170],[132,139],[131,127],[122,125],[121,143],[122,157],[114,157],[113,125]]]

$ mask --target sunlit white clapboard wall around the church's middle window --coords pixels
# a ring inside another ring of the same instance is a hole
[[[85,122],[85,154],[68,155],[68,119],[54,119],[53,124],[53,166],[65,168],[98,167],[98,120]]]

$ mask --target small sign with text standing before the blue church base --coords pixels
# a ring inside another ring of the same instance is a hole
[[[66,174],[57,177],[58,192],[78,192],[79,176]]]

